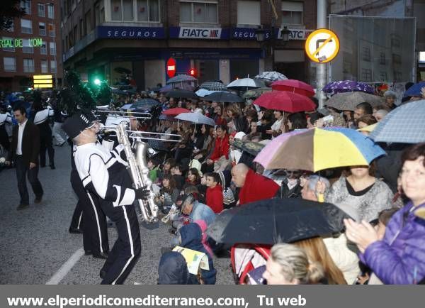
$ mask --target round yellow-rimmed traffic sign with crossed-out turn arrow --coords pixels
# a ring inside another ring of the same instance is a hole
[[[314,62],[327,63],[333,60],[338,52],[338,36],[328,29],[314,31],[305,41],[305,53]]]

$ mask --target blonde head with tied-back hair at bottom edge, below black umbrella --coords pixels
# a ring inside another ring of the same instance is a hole
[[[310,285],[318,283],[323,277],[322,267],[310,263],[302,248],[285,243],[271,248],[263,273],[268,285]]]

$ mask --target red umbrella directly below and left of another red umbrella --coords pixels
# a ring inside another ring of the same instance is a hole
[[[316,105],[305,95],[288,92],[272,91],[261,94],[254,104],[267,109],[286,111],[290,113],[300,111],[313,111]]]

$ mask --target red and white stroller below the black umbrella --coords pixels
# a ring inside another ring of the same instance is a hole
[[[256,244],[236,244],[230,251],[234,282],[245,284],[251,270],[266,265],[270,256],[271,246]]]

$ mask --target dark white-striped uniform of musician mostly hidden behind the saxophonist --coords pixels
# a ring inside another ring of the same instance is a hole
[[[89,192],[83,186],[74,163],[74,154],[77,147],[72,149],[71,185],[77,194],[78,202],[72,215],[71,228],[83,231],[84,251],[91,251],[94,255],[108,253],[108,226],[106,216],[101,209],[96,194]]]

